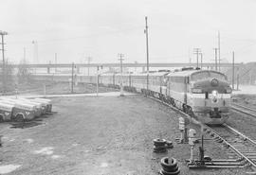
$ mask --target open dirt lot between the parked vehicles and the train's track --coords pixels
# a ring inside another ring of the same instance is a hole
[[[177,159],[181,175],[245,174],[244,169],[189,170],[185,159],[190,146],[174,142],[179,114],[153,99],[132,95],[52,100],[58,114],[25,125],[0,124],[0,166],[19,166],[10,175],[155,175],[164,156]],[[158,137],[173,141],[174,149],[153,153]],[[205,144],[212,158],[227,158],[227,149],[212,141]]]

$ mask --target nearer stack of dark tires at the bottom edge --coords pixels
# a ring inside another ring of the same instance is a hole
[[[174,158],[169,159],[168,157],[164,157],[161,159],[161,175],[177,175],[180,173],[180,169],[177,165],[177,161]]]

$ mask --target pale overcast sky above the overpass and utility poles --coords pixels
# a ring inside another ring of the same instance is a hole
[[[145,62],[144,17],[148,16],[151,62],[192,61],[200,47],[205,61],[214,58],[217,33],[221,57],[231,52],[241,62],[256,61],[256,0],[0,0],[0,30],[9,61],[18,62],[26,48],[33,62]]]

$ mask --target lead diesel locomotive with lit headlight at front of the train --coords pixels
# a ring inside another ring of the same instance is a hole
[[[231,88],[227,77],[212,70],[185,70],[167,76],[166,100],[206,124],[229,117]]]

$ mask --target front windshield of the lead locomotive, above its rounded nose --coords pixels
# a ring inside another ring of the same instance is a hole
[[[192,74],[192,81],[209,78],[227,80],[227,77],[225,75],[213,71],[202,71]]]

